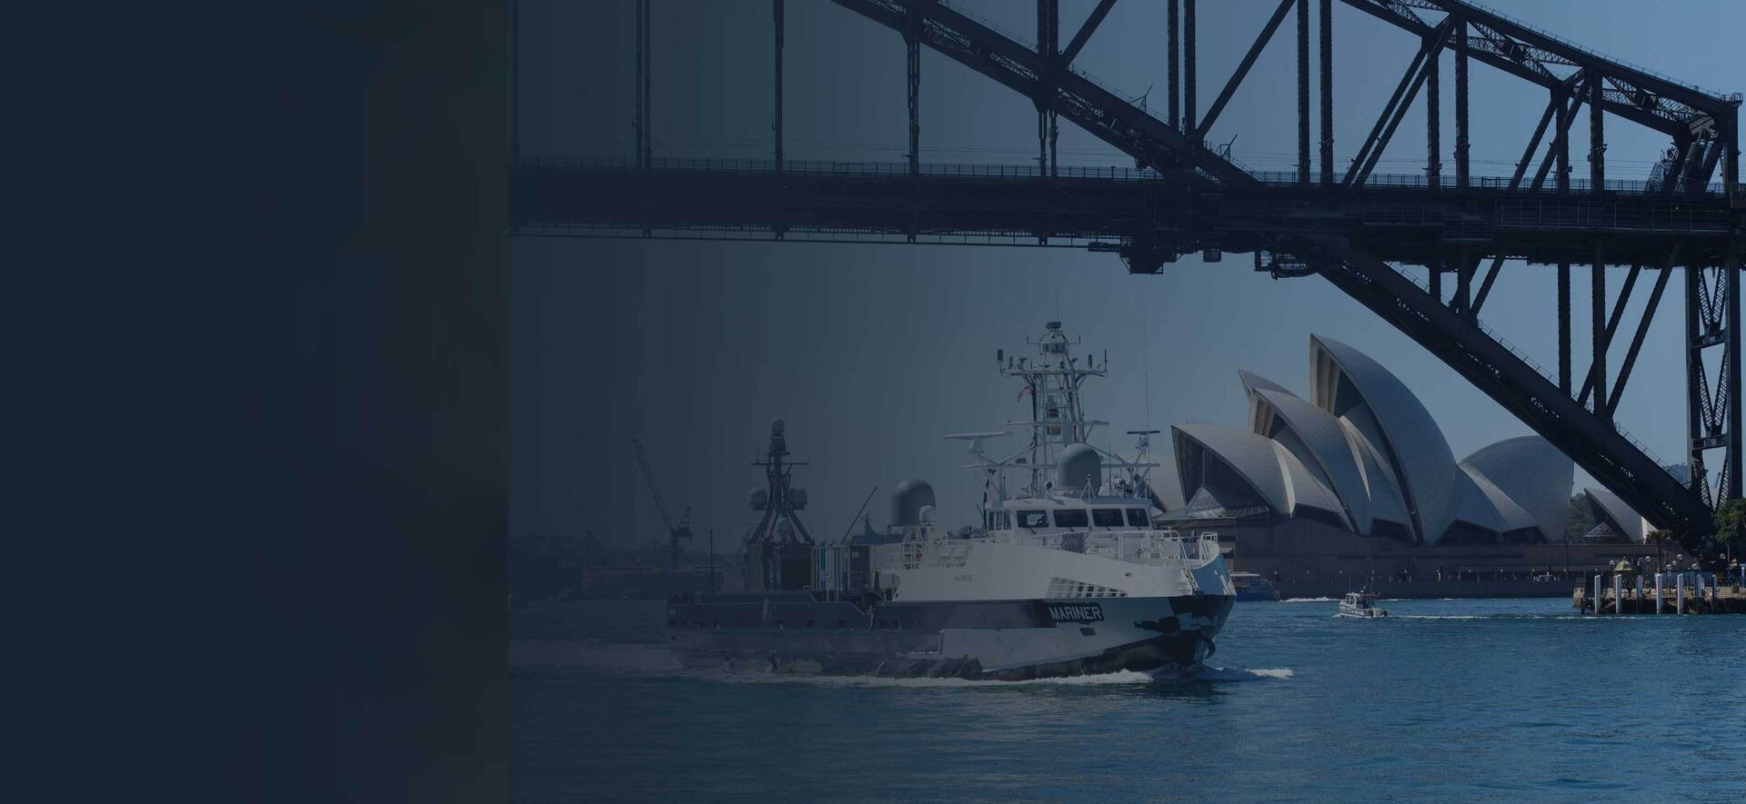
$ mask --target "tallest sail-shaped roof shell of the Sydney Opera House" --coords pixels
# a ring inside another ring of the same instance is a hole
[[[1419,539],[1435,544],[1454,521],[1467,485],[1437,422],[1399,377],[1364,352],[1320,335],[1310,344],[1315,405],[1383,441],[1376,446],[1400,478]]]

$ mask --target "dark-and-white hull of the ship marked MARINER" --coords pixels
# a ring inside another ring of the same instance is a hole
[[[1049,678],[1191,673],[1213,652],[1229,595],[999,602],[716,595],[669,603],[688,668],[779,673]]]

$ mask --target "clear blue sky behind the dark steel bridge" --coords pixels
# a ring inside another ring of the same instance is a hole
[[[1028,2],[953,5],[1034,38]],[[1093,0],[1062,0],[1062,40]],[[1271,0],[1200,3],[1201,112],[1241,59]],[[517,131],[522,153],[632,155],[634,3],[524,0]],[[1627,0],[1523,2],[1505,10],[1563,38],[1713,91],[1746,89],[1739,31],[1746,5]],[[1280,26],[1208,134],[1252,169],[1296,164],[1296,30]],[[653,0],[656,157],[770,157],[768,3]],[[1416,40],[1355,9],[1334,9],[1334,152],[1351,160],[1413,56]],[[1316,37],[1311,35],[1311,47]],[[1311,63],[1315,63],[1311,54]],[[1165,106],[1165,3],[1117,2],[1076,66],[1130,98]],[[1453,162],[1453,58],[1442,65],[1442,162]],[[787,3],[784,133],[789,159],[890,160],[908,146],[904,54],[897,33],[822,0]],[[1311,80],[1311,92],[1315,92]],[[1474,63],[1475,176],[1507,176],[1545,91]],[[1378,173],[1423,173],[1423,94]],[[1021,164],[1035,159],[1028,99],[922,51],[922,160]],[[1313,138],[1320,133],[1313,133]],[[1587,126],[1573,126],[1571,164],[1585,174]],[[1666,138],[1608,119],[1610,178],[1643,178]],[[1131,159],[1062,122],[1062,164]],[[835,539],[876,487],[868,511],[887,521],[899,480],[934,485],[941,521],[974,520],[980,483],[964,445],[941,436],[1021,419],[1018,385],[995,351],[1028,354],[1027,337],[1063,321],[1084,349],[1109,351],[1110,377],[1090,380],[1086,410],[1112,426],[1100,446],[1128,448],[1130,429],[1180,422],[1241,427],[1238,368],[1308,394],[1310,335],[1365,351],[1397,373],[1442,426],[1454,455],[1531,433],[1418,344],[1329,283],[1271,279],[1247,255],[1187,256],[1158,276],[1128,276],[1114,255],[1077,249],[674,242],[517,237],[510,242],[510,528],[592,530],[615,546],[663,534],[630,448],[637,438],[672,513],[690,506],[700,537],[735,544],[753,521],[749,460],[768,420],[787,420],[789,448],[810,460],[798,485],[815,537]],[[1573,298],[1589,295],[1573,272]],[[1624,269],[1613,269],[1617,293]],[[1554,270],[1505,265],[1481,319],[1543,366],[1557,365]],[[1639,283],[1622,330],[1646,298]],[[1585,370],[1587,305],[1573,319],[1573,365]],[[1683,319],[1678,295],[1643,345],[1617,422],[1673,462],[1685,436]],[[1622,345],[1612,356],[1617,366]],[[1011,436],[1009,441],[1018,441]],[[1168,438],[1154,443],[1173,494]],[[1578,485],[1592,483],[1578,469]],[[702,544],[698,544],[702,548]]]

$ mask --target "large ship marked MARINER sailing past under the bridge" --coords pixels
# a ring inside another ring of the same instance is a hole
[[[1096,450],[1079,387],[1103,377],[1051,321],[1030,342],[1037,358],[1007,359],[1032,415],[1013,455],[983,443],[1009,433],[969,433],[985,481],[980,527],[936,525],[932,488],[906,483],[892,499],[894,528],[880,544],[819,544],[798,518],[805,490],[780,419],[770,424],[766,485],[751,494],[761,521],[742,551],[744,591],[676,595],[672,647],[686,666],[793,673],[1042,678],[1135,670],[1189,675],[1213,652],[1234,600],[1210,532],[1152,525],[1145,478],[1149,431],[1135,460]],[[1105,474],[1105,471],[1109,474]],[[1163,511],[1163,506],[1156,506]]]

